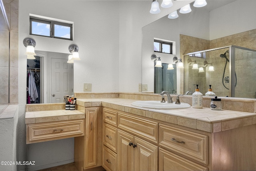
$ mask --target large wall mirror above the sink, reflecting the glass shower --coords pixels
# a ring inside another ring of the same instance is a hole
[[[256,15],[254,10],[256,2],[254,0],[206,0],[206,2],[207,6],[202,8],[195,8],[192,2],[190,4],[192,12],[188,14],[178,12],[179,17],[176,19],[164,16],[142,28],[142,84],[148,85],[148,92],[154,92],[156,78],[154,62],[150,60],[152,54],[160,56],[167,64],[173,64],[173,57],[176,56],[182,59],[184,64],[184,69],[176,68],[176,93],[194,92],[193,84],[200,84],[201,92],[206,93],[211,84],[218,96],[256,98],[256,89],[251,88],[253,87],[251,85],[255,84],[256,77],[252,72],[252,66],[256,64],[254,60],[256,23],[252,22]],[[154,52],[154,38],[175,42],[176,53],[166,56]],[[234,46],[238,48],[232,50],[231,47]],[[205,53],[198,56],[201,51]],[[230,62],[226,64],[228,60]],[[203,67],[204,72],[191,70],[194,63],[189,65],[190,61],[197,61],[198,67]],[[208,62],[207,66],[204,65],[204,61]],[[229,77],[230,82],[225,83],[223,79],[222,84],[225,64],[225,70],[228,72],[225,72],[224,77]],[[214,66],[214,72],[208,72],[210,65]],[[233,73],[236,74],[231,74],[229,70],[234,70]],[[211,80],[210,76],[218,77],[220,80]],[[236,90],[230,92],[229,88],[232,86],[235,86]]]

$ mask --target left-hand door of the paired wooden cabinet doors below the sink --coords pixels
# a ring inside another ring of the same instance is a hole
[[[117,158],[118,158],[118,171],[134,171],[133,157],[134,148],[131,143],[133,142],[133,135],[118,130],[117,139]],[[129,145],[130,143],[130,145]]]

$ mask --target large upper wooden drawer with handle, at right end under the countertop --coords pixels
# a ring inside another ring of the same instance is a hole
[[[159,145],[208,164],[208,136],[159,124]]]

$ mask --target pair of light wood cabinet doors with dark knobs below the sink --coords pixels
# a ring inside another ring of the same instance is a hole
[[[118,171],[158,170],[158,146],[118,130]]]

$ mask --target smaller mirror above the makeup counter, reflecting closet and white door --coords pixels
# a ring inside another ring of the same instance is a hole
[[[35,53],[36,59],[27,60],[27,104],[64,102],[64,96],[74,94],[73,64],[67,63],[69,54]]]

